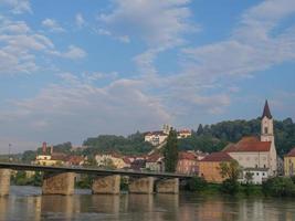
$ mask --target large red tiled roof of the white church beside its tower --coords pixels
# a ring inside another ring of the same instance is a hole
[[[271,141],[260,141],[257,137],[243,137],[238,144],[226,146],[223,151],[270,151]]]

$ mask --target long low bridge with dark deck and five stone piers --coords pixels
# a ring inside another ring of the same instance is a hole
[[[122,176],[129,177],[130,193],[146,194],[154,193],[154,189],[158,193],[178,193],[179,179],[192,178],[188,175],[168,172],[0,162],[0,196],[9,194],[11,170],[43,171],[42,194],[73,194],[77,173],[94,175],[92,192],[95,194],[118,194]]]

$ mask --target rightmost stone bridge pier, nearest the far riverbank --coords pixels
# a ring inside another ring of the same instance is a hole
[[[156,182],[156,191],[158,193],[179,193],[179,179],[160,179]]]

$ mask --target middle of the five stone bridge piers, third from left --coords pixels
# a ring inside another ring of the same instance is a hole
[[[97,177],[93,180],[92,192],[94,194],[118,194],[119,187],[120,187],[119,175]]]

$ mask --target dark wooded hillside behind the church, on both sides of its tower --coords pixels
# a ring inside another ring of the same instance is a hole
[[[295,124],[291,118],[274,120],[277,154],[287,154],[295,144]],[[259,136],[261,119],[228,120],[213,125],[199,125],[191,137],[179,140],[180,150],[219,151],[229,143],[236,143],[243,136]]]

